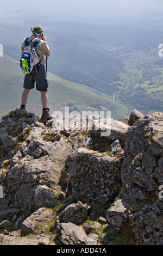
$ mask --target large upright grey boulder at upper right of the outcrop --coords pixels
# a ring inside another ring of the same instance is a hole
[[[130,127],[124,144],[122,181],[130,180],[149,191],[157,189],[153,173],[162,155],[162,132],[163,114],[149,115]]]

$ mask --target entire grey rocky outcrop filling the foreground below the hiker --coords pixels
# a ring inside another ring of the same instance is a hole
[[[163,113],[102,121],[2,118],[0,245],[162,245]]]

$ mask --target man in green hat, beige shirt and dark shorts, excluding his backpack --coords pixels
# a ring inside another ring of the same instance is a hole
[[[45,29],[43,29],[41,26],[36,25],[34,27],[30,26],[32,30],[32,35],[27,39],[28,45],[33,45],[36,39],[41,39],[38,44],[35,46],[35,50],[37,53],[37,56],[39,57],[39,65],[37,65],[37,69],[35,69],[35,66],[33,68],[33,71],[30,74],[26,74],[24,77],[24,90],[22,93],[22,102],[21,102],[21,109],[26,109],[26,103],[28,99],[28,95],[30,92],[30,89],[33,89],[35,87],[36,82],[36,90],[39,90],[41,92],[41,102],[42,102],[42,115],[41,120],[49,120],[52,119],[52,115],[49,114],[49,108],[47,107],[48,104],[48,94],[47,94],[47,88],[48,88],[48,81],[46,77],[46,71],[45,71],[45,63],[46,60],[43,57],[45,55],[46,57],[50,56],[51,51],[47,45],[46,37],[42,33]],[[24,50],[24,47],[26,45],[26,39],[22,42],[22,53]]]

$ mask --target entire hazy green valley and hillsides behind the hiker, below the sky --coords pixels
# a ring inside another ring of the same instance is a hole
[[[48,58],[51,113],[64,110],[67,105],[80,112],[105,109],[115,119],[125,117],[134,108],[143,114],[163,111],[163,61],[158,56],[163,37],[159,31],[82,22],[59,22],[55,26],[51,23],[47,27],[51,48]],[[4,57],[0,58],[2,116],[20,106],[24,77],[18,62],[20,46],[31,32],[26,28],[27,34],[18,25],[0,28],[4,46]],[[41,114],[41,108],[40,93],[34,89],[27,109]]]

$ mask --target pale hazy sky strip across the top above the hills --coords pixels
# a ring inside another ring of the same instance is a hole
[[[162,0],[0,0],[0,21],[39,15],[162,19]],[[20,20],[21,20],[20,19]]]

